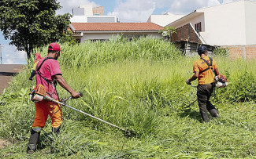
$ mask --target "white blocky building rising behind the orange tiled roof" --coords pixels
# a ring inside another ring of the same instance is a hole
[[[117,16],[104,16],[103,6],[80,5],[72,9],[72,23],[117,23]]]

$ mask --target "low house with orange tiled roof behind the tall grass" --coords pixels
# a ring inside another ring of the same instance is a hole
[[[124,38],[161,38],[160,31],[164,29],[155,23],[71,23],[69,28],[78,42],[105,41],[116,38],[118,34]]]

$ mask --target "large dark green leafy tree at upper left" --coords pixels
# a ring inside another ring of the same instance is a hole
[[[57,0],[1,0],[0,30],[10,45],[27,52],[65,37],[70,14],[56,16],[61,9]]]

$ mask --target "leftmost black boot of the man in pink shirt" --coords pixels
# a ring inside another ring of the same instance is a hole
[[[28,154],[32,154],[33,152],[35,152],[35,150],[37,150],[38,143],[39,143],[39,137],[40,137],[40,132],[35,132],[32,129],[32,132],[31,132],[31,135],[29,138],[29,142],[28,142],[28,150],[27,150]]]

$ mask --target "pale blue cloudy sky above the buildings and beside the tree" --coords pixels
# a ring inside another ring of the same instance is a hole
[[[115,15],[121,22],[146,22],[151,14],[165,12],[188,14],[202,7],[221,5],[236,0],[58,0],[62,9],[58,14],[71,13],[72,8],[91,4],[104,6],[105,15]],[[26,63],[25,52],[17,52],[15,46],[9,46],[0,32],[3,63]]]

